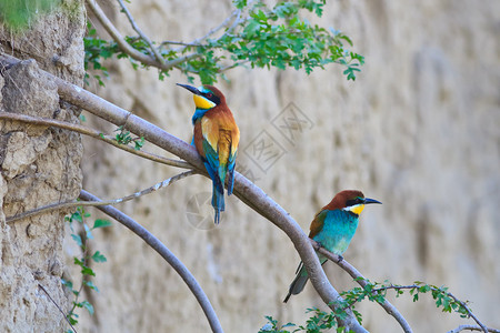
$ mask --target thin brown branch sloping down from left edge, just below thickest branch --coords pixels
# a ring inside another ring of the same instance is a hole
[[[12,121],[27,122],[27,123],[38,124],[38,125],[48,125],[48,127],[74,131],[80,134],[89,135],[91,138],[104,141],[106,143],[109,143],[116,148],[119,148],[129,153],[132,153],[134,155],[144,158],[144,159],[158,162],[158,163],[177,167],[177,168],[183,168],[183,169],[192,168],[188,162],[184,162],[181,160],[163,158],[163,157],[160,157],[160,155],[157,155],[153,153],[146,152],[143,150],[136,150],[132,147],[127,145],[127,144],[121,144],[121,143],[117,142],[117,140],[114,140],[113,138],[103,135],[101,132],[99,132],[94,129],[90,129],[90,128],[83,127],[78,123],[70,123],[67,121],[30,117],[30,115],[26,115],[26,114],[3,112],[3,111],[0,111],[0,119],[8,119],[8,120],[12,120]]]

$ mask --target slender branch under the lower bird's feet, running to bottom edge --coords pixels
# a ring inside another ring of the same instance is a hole
[[[366,286],[367,282],[364,276],[350,263],[348,263],[346,260],[340,260],[340,256],[331,253],[330,251],[328,251],[327,249],[322,248],[319,245],[318,242],[310,240],[312,243],[312,246],[321,254],[323,254],[324,256],[327,256],[328,259],[330,259],[332,262],[337,263],[339,266],[341,266],[346,272],[349,273],[349,275],[351,275],[356,282],[358,282],[358,284],[360,284],[361,286]],[[382,303],[379,303],[380,306],[382,306],[386,312],[390,315],[392,315],[398,323],[401,325],[401,327],[403,329],[403,331],[406,333],[411,333],[411,326],[410,324],[407,322],[407,320],[404,319],[404,316],[398,311],[398,309],[396,309],[394,305],[392,305],[388,300],[384,300]]]

